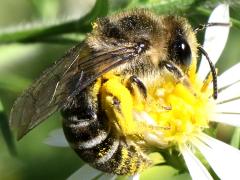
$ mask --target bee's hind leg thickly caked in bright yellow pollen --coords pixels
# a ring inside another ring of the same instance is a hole
[[[111,76],[101,87],[101,105],[123,135],[136,134],[137,125],[133,120],[133,97],[122,78]]]

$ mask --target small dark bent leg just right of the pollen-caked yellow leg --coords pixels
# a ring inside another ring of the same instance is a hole
[[[132,75],[127,80],[127,88],[130,90],[131,94],[134,94],[134,86],[137,86],[140,94],[146,99],[147,98],[147,88],[143,82],[135,75]]]

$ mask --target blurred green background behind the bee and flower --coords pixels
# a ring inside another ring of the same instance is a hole
[[[51,130],[61,127],[58,113],[15,142],[17,155],[7,129],[7,118],[14,100],[44,69],[84,38],[90,31],[92,19],[123,8],[144,7],[157,13],[186,15],[197,27],[207,22],[217,2],[99,0],[100,5],[86,18],[84,15],[94,7],[94,0],[0,0],[0,179],[66,179],[82,164],[70,148],[50,147],[43,143]],[[240,60],[237,21],[240,8],[237,1],[231,3],[231,17],[235,18],[236,24],[218,63],[220,73]],[[173,8],[176,11],[172,11]],[[40,33],[29,31],[32,29],[40,30]],[[202,37],[203,33],[200,33],[200,42]],[[220,135],[230,141],[233,129],[224,129]]]

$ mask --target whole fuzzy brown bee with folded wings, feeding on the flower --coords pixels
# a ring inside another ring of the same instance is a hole
[[[163,76],[163,69],[183,79],[198,47],[195,32],[183,17],[138,9],[98,19],[84,42],[17,99],[10,125],[21,139],[60,110],[66,139],[82,160],[104,172],[133,175],[151,165],[149,150],[141,137],[127,137],[136,131],[127,129],[127,119],[119,124],[113,117],[113,112],[128,111],[128,105],[123,106],[127,98],[120,97],[124,92],[116,87],[113,91],[119,96],[110,93],[110,105],[103,103],[101,88],[111,80],[105,75],[124,79],[124,91],[133,94],[137,89],[146,98],[146,84]]]

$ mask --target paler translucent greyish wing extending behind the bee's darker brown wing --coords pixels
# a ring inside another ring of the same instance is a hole
[[[10,114],[10,125],[17,129],[18,139],[57,110],[61,99],[52,101],[56,86],[81,51],[82,45],[69,50],[16,100]]]

